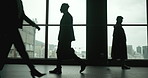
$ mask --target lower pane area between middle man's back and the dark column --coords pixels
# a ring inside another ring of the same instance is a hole
[[[75,53],[82,59],[86,59],[86,26],[74,26],[75,41],[72,47]]]

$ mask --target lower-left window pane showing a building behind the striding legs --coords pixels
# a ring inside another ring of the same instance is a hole
[[[32,26],[24,26],[23,29],[19,30],[30,58],[44,58],[45,27],[42,26],[40,28],[41,30],[38,31]],[[8,57],[20,58],[13,45]]]

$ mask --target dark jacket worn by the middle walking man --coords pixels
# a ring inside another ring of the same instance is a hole
[[[73,18],[70,13],[65,13],[60,22],[59,41],[74,41]]]

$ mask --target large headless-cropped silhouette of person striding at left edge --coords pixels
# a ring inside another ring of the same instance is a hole
[[[3,69],[11,46],[14,44],[23,61],[30,68],[31,76],[34,78],[35,76],[41,77],[45,75],[35,69],[35,66],[30,61],[19,32],[19,28],[22,28],[23,20],[36,27],[38,30],[40,30],[40,28],[25,15],[21,0],[9,0],[4,2],[9,6],[2,9],[3,17],[1,24],[4,23],[5,26],[3,26],[3,29],[0,31],[0,70]]]

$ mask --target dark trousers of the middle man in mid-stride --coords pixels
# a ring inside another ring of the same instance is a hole
[[[73,48],[71,48],[71,41],[59,41],[57,49],[57,68],[61,67],[62,60],[73,59],[82,63],[82,60],[75,54]]]

